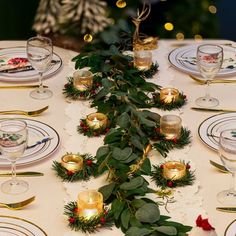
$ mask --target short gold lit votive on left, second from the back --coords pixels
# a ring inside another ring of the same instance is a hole
[[[103,113],[91,113],[87,116],[86,123],[91,129],[101,129],[107,126],[108,118]]]

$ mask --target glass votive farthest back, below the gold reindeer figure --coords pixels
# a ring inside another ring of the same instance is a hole
[[[134,51],[134,67],[148,70],[152,65],[152,52],[149,50]]]

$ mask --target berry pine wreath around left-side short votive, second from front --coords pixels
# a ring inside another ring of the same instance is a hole
[[[68,153],[67,153],[68,154]],[[89,180],[91,176],[97,175],[97,164],[94,157],[90,154],[78,154],[83,158],[83,168],[78,171],[70,171],[61,165],[60,162],[53,161],[52,168],[56,172],[57,176],[66,182],[75,182],[79,180]]]

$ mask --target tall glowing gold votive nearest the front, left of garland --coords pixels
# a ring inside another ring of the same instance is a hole
[[[103,211],[103,196],[96,190],[87,190],[78,194],[78,214],[90,219]]]

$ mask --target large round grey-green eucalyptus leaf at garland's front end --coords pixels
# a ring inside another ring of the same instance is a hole
[[[154,203],[147,203],[136,211],[135,217],[141,222],[152,224],[160,219],[159,207]]]

